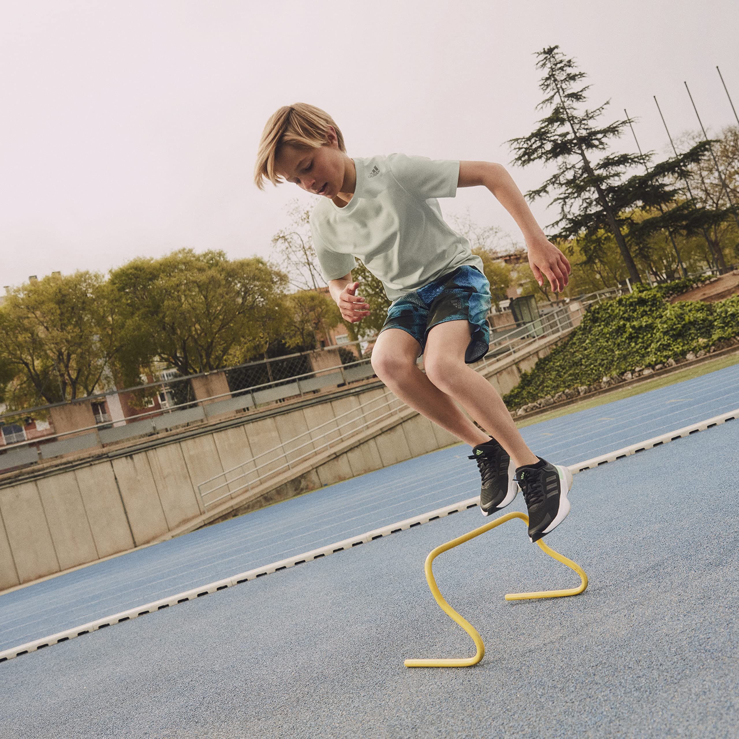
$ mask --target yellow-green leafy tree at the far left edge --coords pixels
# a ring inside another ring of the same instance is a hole
[[[103,389],[121,361],[129,313],[98,273],[27,282],[0,307],[0,365],[13,409],[58,403]]]

